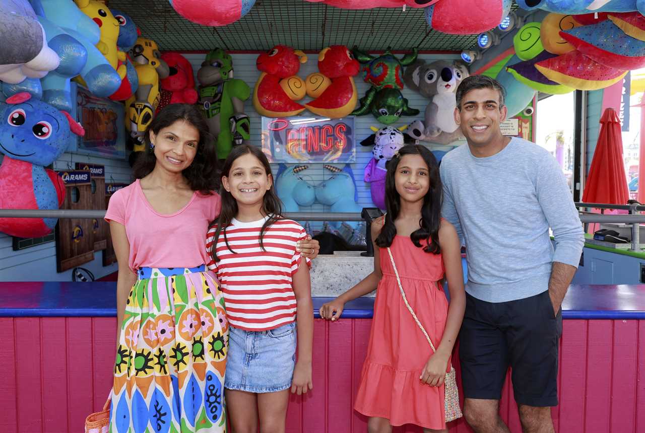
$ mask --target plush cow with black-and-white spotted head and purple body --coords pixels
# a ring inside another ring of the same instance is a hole
[[[365,166],[363,180],[370,183],[372,202],[379,209],[385,209],[385,175],[387,169],[385,164],[392,159],[395,153],[406,144],[414,142],[414,138],[404,134],[407,126],[393,128],[385,126],[380,130],[370,127],[374,133],[361,141],[363,146],[373,146],[372,159]]]

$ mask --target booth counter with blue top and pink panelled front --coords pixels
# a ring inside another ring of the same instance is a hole
[[[0,283],[0,432],[83,431],[110,390],[114,297],[114,283]],[[325,301],[315,298],[314,307]],[[339,322],[315,320],[314,389],[290,399],[288,432],[366,432],[352,405],[371,307],[362,298]],[[556,431],[644,432],[645,286],[571,286],[563,310]],[[455,356],[459,381],[458,363]],[[508,385],[502,418],[521,432]],[[470,431],[462,420],[450,424],[450,432]]]

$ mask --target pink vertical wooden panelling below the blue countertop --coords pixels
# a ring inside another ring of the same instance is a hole
[[[371,323],[315,320],[314,388],[290,398],[287,432],[366,431],[352,405]],[[115,319],[0,318],[0,334],[0,432],[82,432],[110,390]],[[551,410],[557,432],[645,431],[645,321],[564,320],[559,385],[560,405]],[[521,432],[510,378],[500,412],[511,432]],[[450,425],[451,433],[471,431],[464,421]]]

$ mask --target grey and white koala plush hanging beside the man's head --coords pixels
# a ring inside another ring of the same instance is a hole
[[[406,68],[403,75],[406,86],[430,99],[424,122],[413,122],[408,131],[410,136],[417,140],[436,142],[434,139],[442,133],[445,133],[444,136],[453,136],[455,132],[459,135],[453,115],[457,105],[455,92],[459,83],[468,75],[466,65],[459,61],[438,60],[426,63],[424,60],[417,60]],[[439,141],[448,139],[442,138],[444,139]]]

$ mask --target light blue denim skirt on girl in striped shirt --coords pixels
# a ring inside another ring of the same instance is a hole
[[[226,389],[276,392],[291,387],[295,367],[295,322],[269,331],[228,331]]]

